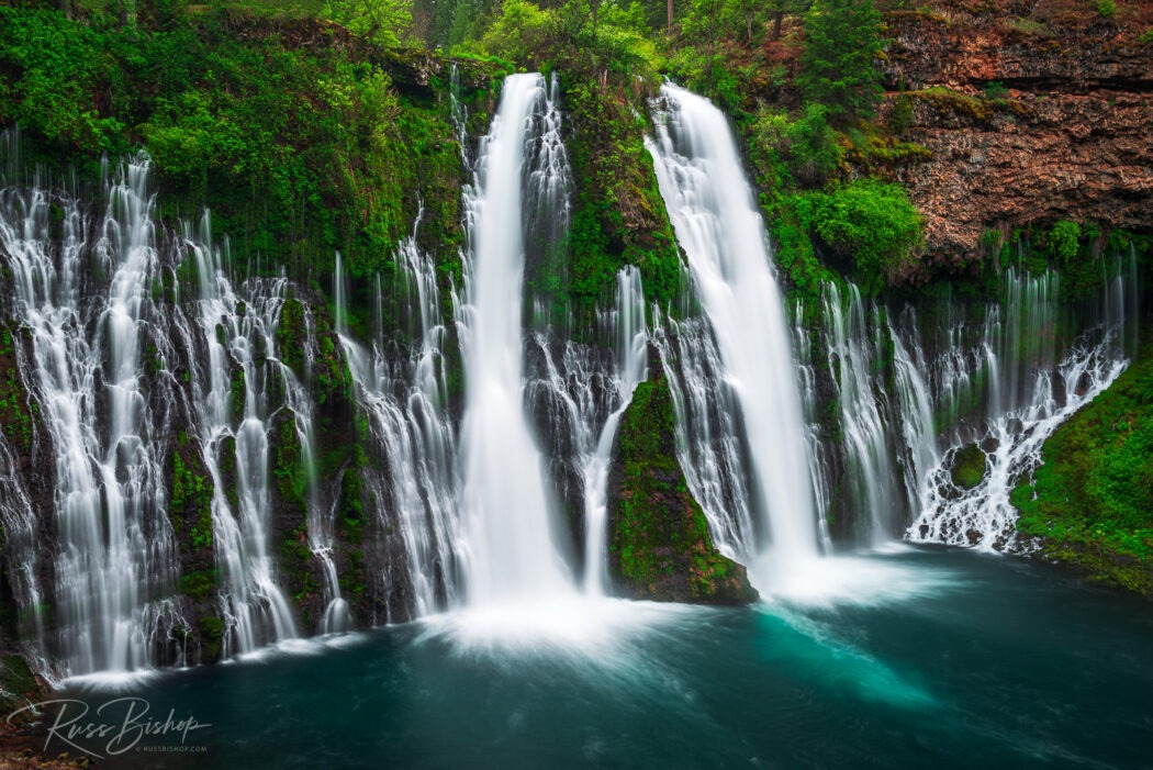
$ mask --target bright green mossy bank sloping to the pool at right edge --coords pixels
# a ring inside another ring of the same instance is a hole
[[[1153,344],[1042,447],[1017,529],[1097,579],[1153,595]]]

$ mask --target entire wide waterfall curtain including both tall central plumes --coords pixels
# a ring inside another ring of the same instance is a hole
[[[713,544],[767,594],[897,538],[1031,548],[1009,495],[1136,352],[1131,249],[1100,255],[1077,302],[1018,259],[995,299],[883,301],[836,279],[786,308],[724,115],[665,85],[648,146],[687,296],[648,305],[626,265],[574,310],[552,272],[573,201],[558,91],[508,76],[462,148],[459,273],[422,250],[422,212],[389,271],[333,255],[331,308],[311,275],[242,269],[208,213],[160,227],[146,154],[83,192],[8,172],[3,588],[43,672],[461,609],[596,619],[615,604],[617,430],[650,365]],[[974,455],[984,473],[960,483]]]

